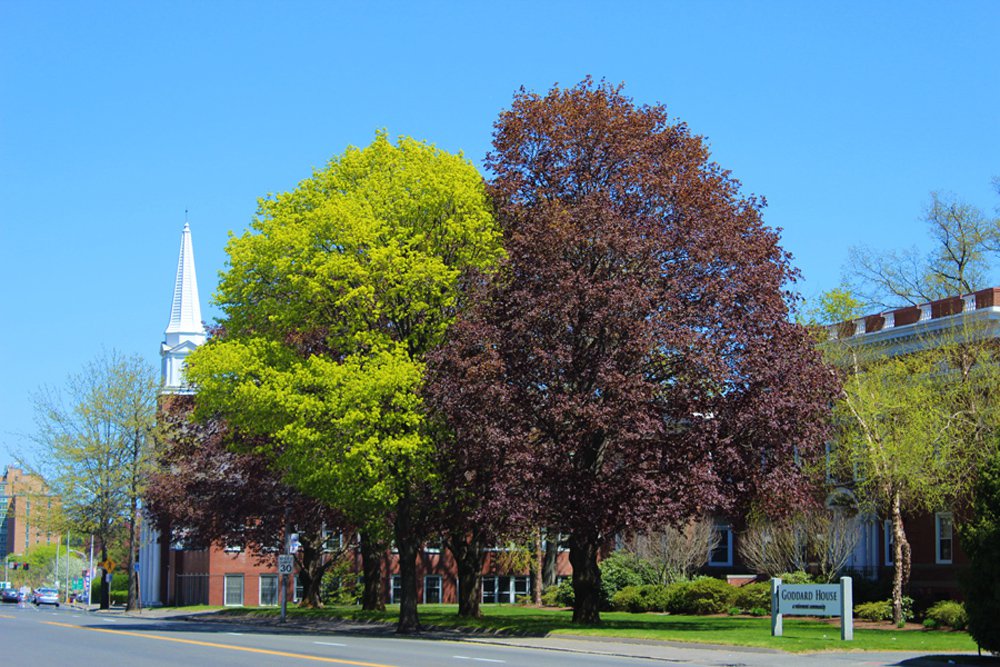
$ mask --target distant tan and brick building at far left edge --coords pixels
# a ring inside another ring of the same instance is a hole
[[[41,477],[7,466],[0,479],[0,558],[56,544],[59,536],[49,532],[46,519],[57,506]]]

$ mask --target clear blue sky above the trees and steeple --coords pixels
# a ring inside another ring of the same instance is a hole
[[[992,212],[1000,3],[0,0],[0,465],[102,349],[158,367],[184,211],[206,319],[230,231],[378,128],[477,165],[525,86],[590,74],[707,138],[803,274]],[[1000,281],[998,281],[1000,282]]]

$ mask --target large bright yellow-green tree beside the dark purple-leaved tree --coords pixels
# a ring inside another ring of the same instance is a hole
[[[260,201],[232,238],[221,333],[189,358],[198,410],[265,436],[286,479],[400,556],[398,630],[419,627],[416,554],[433,439],[425,357],[458,308],[460,279],[500,256],[476,169],[384,132],[292,192]]]

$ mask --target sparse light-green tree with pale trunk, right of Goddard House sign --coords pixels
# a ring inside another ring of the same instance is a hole
[[[920,341],[916,352],[827,344],[845,371],[835,414],[838,476],[885,513],[893,535],[893,620],[903,620],[910,545],[904,517],[953,507],[997,433],[1000,355],[988,331],[964,329]]]

